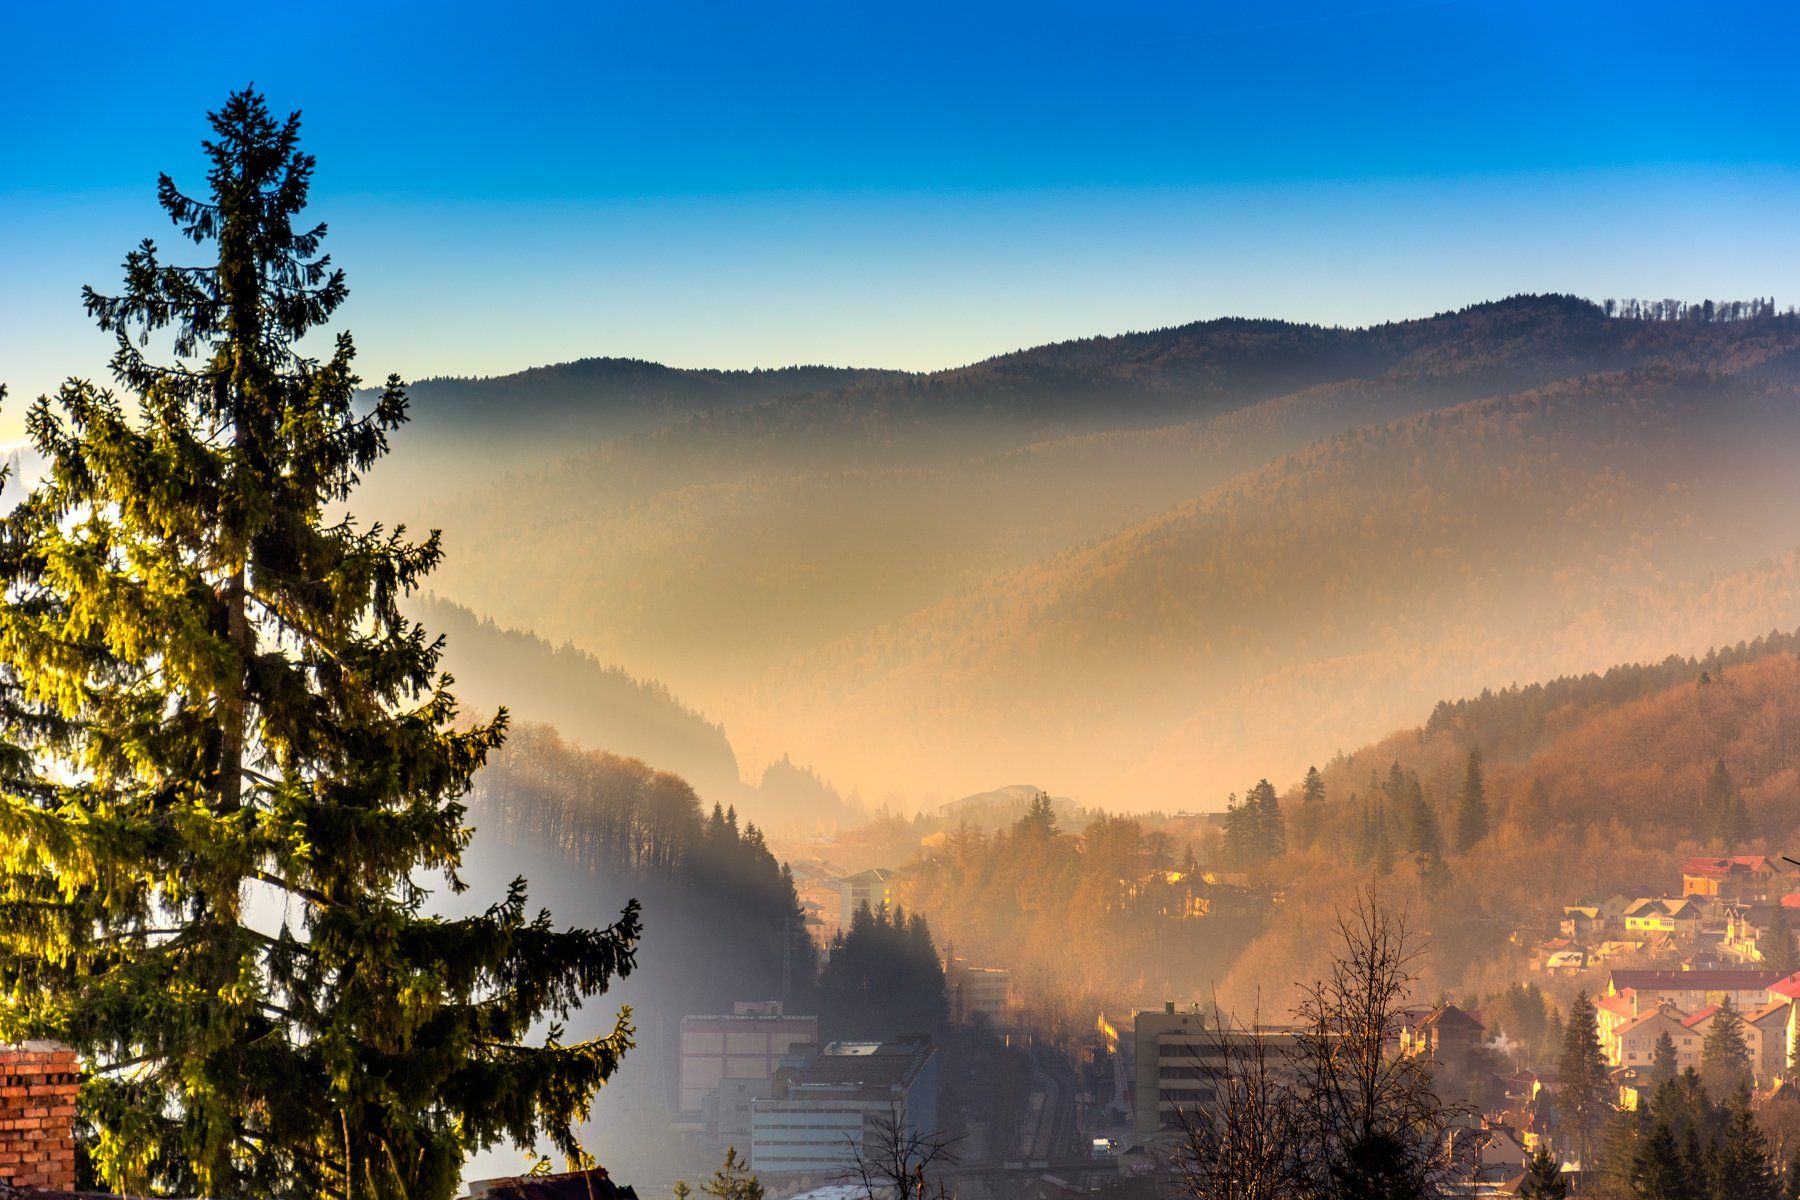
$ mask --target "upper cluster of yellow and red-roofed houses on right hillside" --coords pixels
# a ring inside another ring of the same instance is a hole
[[[1688,858],[1679,894],[1633,885],[1564,907],[1557,937],[1535,946],[1534,968],[1579,975],[1643,961],[1759,966],[1778,909],[1800,925],[1800,865],[1768,855]]]

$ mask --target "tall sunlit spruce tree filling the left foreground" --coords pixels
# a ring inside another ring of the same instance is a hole
[[[407,401],[389,378],[358,416],[347,335],[301,351],[346,286],[295,225],[299,117],[245,90],[211,122],[207,196],[158,200],[216,257],[144,241],[85,291],[128,399],[31,407],[45,475],[0,529],[0,1036],[81,1051],[113,1191],[448,1200],[472,1150],[580,1153],[625,1015],[531,1029],[630,970],[635,905],[563,932],[515,882],[428,912],[504,712],[463,721],[400,612],[437,538],[337,515]]]

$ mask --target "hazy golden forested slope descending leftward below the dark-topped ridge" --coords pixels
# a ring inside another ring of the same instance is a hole
[[[1112,806],[1213,808],[1433,694],[1800,619],[1791,558],[1732,574],[1796,542],[1796,435],[1786,387],[1667,372],[1364,426],[846,639],[760,700],[877,770],[916,777],[931,745]]]

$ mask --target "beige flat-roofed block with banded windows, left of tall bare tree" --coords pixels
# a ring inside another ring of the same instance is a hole
[[[1179,1128],[1184,1108],[1211,1103],[1217,1096],[1215,1083],[1233,1054],[1262,1051],[1289,1056],[1296,1043],[1292,1029],[1222,1027],[1197,1009],[1177,1013],[1174,1004],[1165,1004],[1161,1013],[1138,1013],[1132,1031],[1138,1141]]]

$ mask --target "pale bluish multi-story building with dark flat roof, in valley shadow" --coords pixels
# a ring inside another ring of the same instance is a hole
[[[833,1042],[781,1070],[770,1096],[751,1101],[751,1168],[837,1178],[859,1146],[878,1148],[887,1126],[941,1132],[931,1038]]]

